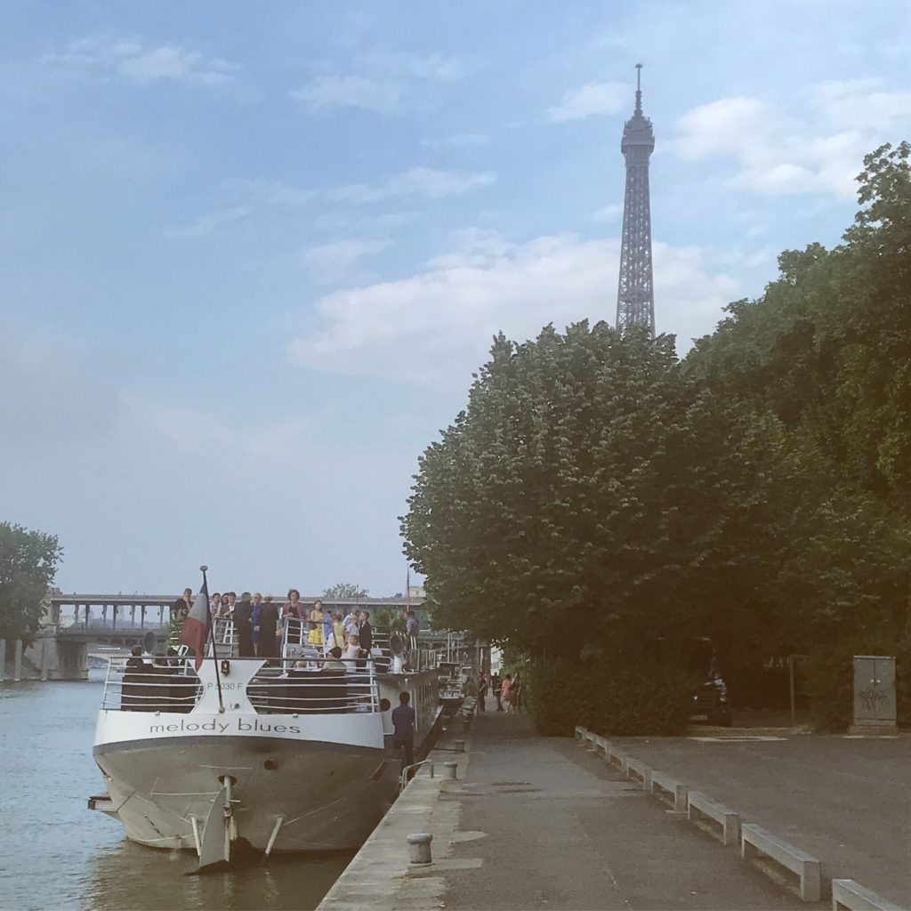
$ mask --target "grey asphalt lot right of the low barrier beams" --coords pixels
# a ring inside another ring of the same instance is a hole
[[[824,879],[911,907],[911,736],[611,742],[818,857]]]

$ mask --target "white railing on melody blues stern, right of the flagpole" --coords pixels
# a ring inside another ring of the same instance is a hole
[[[266,665],[247,684],[247,698],[258,714],[380,711],[372,660],[336,660],[308,651],[280,666]]]

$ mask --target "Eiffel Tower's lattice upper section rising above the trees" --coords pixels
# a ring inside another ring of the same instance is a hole
[[[617,328],[648,326],[655,334],[655,293],[651,281],[649,157],[655,148],[651,121],[642,115],[642,65],[636,64],[636,110],[623,127],[620,151],[627,163],[620,241]]]

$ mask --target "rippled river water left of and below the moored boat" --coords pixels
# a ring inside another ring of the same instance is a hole
[[[196,857],[131,844],[87,810],[103,671],[87,682],[0,684],[0,908],[158,911],[314,908],[350,854],[274,855],[195,875]]]

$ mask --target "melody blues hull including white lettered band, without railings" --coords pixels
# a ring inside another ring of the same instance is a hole
[[[411,693],[420,746],[440,717],[435,675],[377,678],[385,711],[261,714],[245,689],[260,663],[232,662],[224,711],[205,666],[204,694],[192,711],[102,709],[93,752],[107,795],[89,805],[117,818],[138,844],[199,852],[206,820],[230,779],[232,841],[266,853],[363,844],[399,780],[393,704],[400,691]]]

